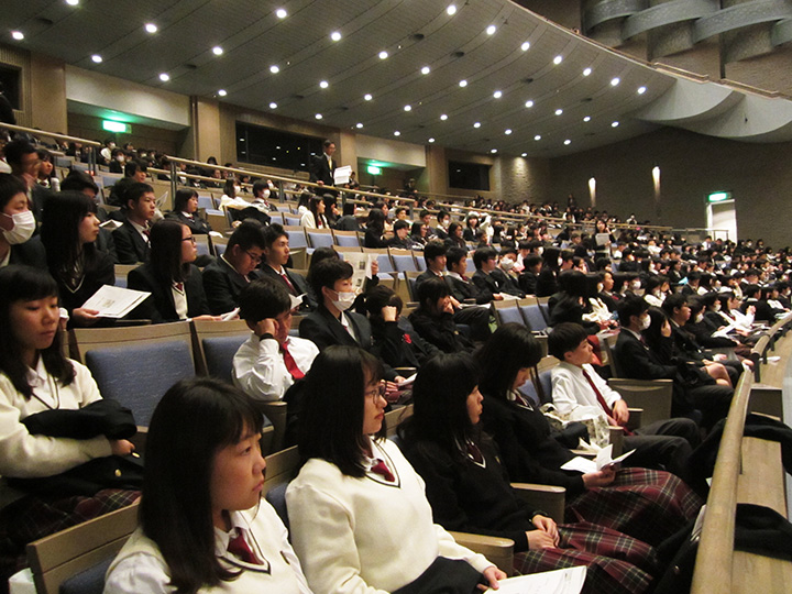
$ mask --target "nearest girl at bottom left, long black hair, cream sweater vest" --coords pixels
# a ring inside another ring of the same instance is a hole
[[[108,570],[106,594],[310,594],[283,521],[262,501],[262,415],[217,380],[163,396],[146,447],[140,526]]]

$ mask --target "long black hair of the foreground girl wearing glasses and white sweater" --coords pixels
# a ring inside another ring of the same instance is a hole
[[[305,400],[299,417],[299,453],[336,464],[342,474],[362,477],[364,392],[366,381],[378,382],[378,359],[356,346],[334,345],[319,353],[306,375]],[[386,433],[383,421],[377,439]]]

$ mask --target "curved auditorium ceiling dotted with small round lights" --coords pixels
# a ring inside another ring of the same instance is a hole
[[[152,87],[389,140],[548,157],[659,125],[792,140],[785,98],[680,77],[508,0],[4,4],[4,43]]]

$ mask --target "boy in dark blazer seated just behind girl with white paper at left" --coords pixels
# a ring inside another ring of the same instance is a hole
[[[135,182],[127,189],[127,220],[113,231],[116,264],[148,261],[150,223],[156,209],[154,188]]]

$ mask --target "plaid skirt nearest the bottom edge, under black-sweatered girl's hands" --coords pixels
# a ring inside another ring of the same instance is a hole
[[[654,549],[626,535],[591,522],[559,526],[554,549],[515,556],[521,574],[586,565],[584,594],[640,594],[660,571]]]

